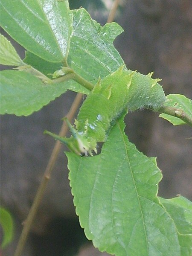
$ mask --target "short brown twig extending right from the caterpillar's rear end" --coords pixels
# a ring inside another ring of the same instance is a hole
[[[182,109],[162,106],[157,111],[160,113],[168,114],[170,116],[175,116],[192,127],[192,117],[187,115]]]

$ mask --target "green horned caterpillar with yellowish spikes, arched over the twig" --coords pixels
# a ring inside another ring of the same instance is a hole
[[[136,71],[119,70],[99,81],[82,104],[76,129],[67,124],[72,137],[65,138],[45,131],[56,140],[67,144],[71,151],[84,155],[96,152],[97,142],[104,142],[108,130],[125,109],[135,111],[143,108],[157,110],[165,102],[165,94],[152,73],[144,76]]]

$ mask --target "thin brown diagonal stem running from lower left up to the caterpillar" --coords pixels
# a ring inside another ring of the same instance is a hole
[[[73,104],[70,108],[70,111],[67,114],[67,118],[70,121],[73,119],[73,116],[75,115],[76,110],[79,107],[79,104],[82,100],[82,97],[83,97],[83,94],[81,94],[81,93],[77,94],[77,96],[76,96],[76,98],[75,98],[75,100],[74,100],[74,102],[73,102]],[[61,131],[60,131],[59,135],[64,137],[65,134],[67,133],[67,130],[68,130],[68,126],[65,124],[65,122],[63,122],[63,125],[61,127]],[[23,247],[24,247],[24,244],[26,242],[27,236],[29,234],[30,227],[32,225],[35,214],[37,213],[38,206],[41,203],[41,199],[43,197],[43,194],[44,194],[45,188],[47,186],[47,183],[50,179],[51,172],[52,172],[52,169],[55,165],[55,161],[57,160],[58,153],[59,153],[60,149],[61,149],[61,143],[59,141],[57,141],[55,143],[55,146],[53,148],[51,157],[50,157],[49,162],[47,164],[47,168],[44,172],[44,176],[43,176],[43,179],[41,181],[41,184],[40,184],[40,186],[38,188],[38,191],[35,195],[32,207],[29,210],[29,214],[26,218],[26,221],[24,221],[23,230],[22,230],[22,233],[20,235],[20,239],[18,241],[17,248],[15,250],[14,256],[20,256],[21,255],[21,252],[23,250]]]

